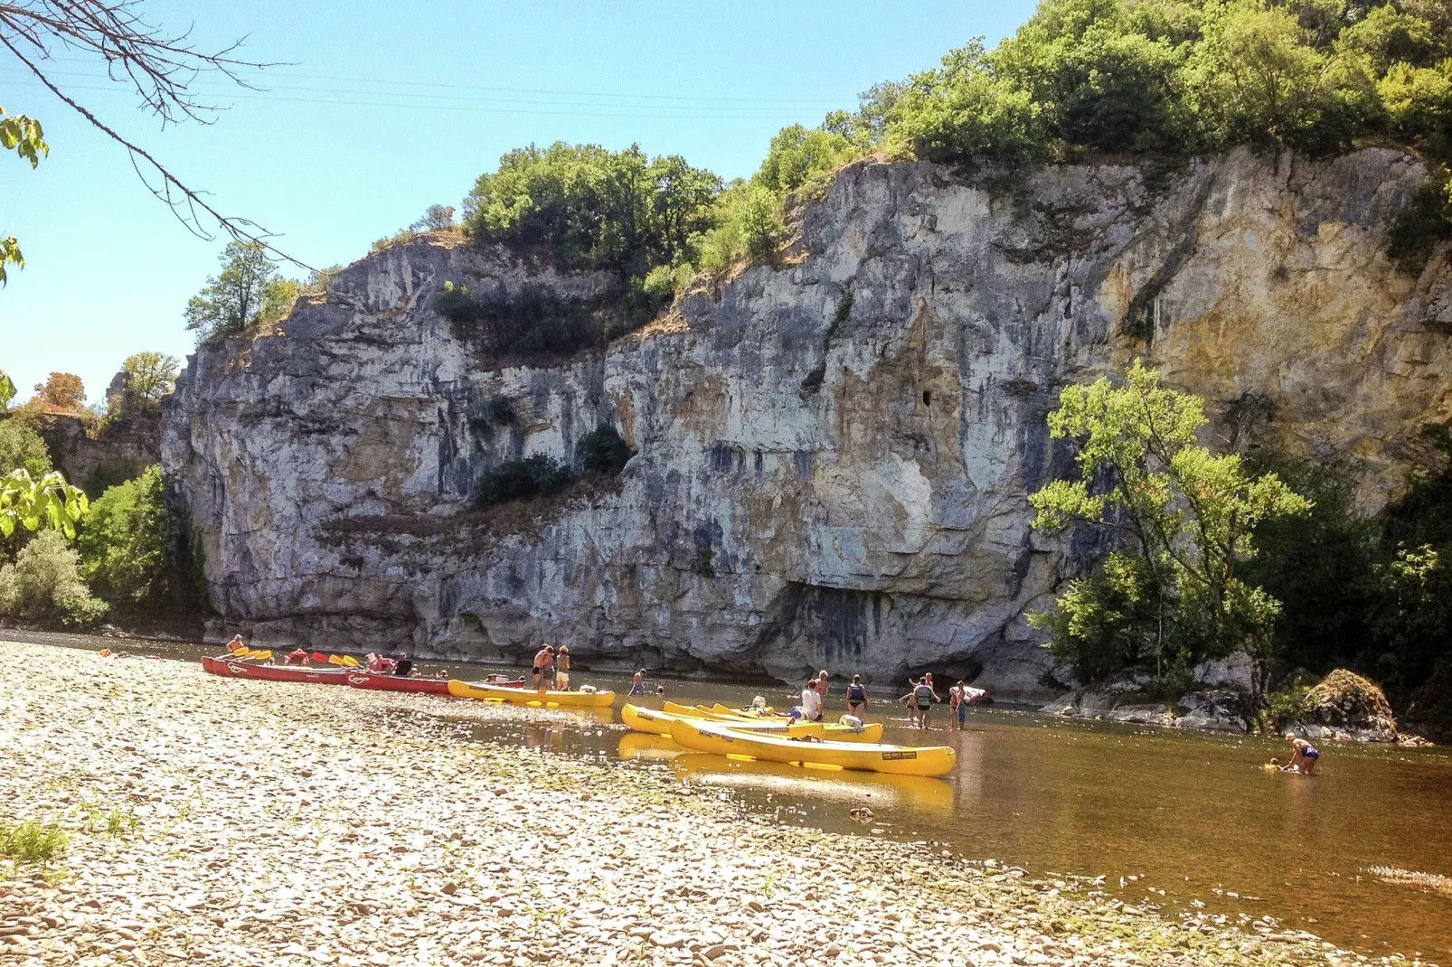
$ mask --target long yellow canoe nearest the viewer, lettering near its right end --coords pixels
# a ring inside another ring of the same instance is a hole
[[[768,762],[800,762],[809,768],[862,770],[893,775],[944,775],[957,754],[945,746],[910,748],[867,742],[803,742],[743,732],[720,722],[677,719],[671,738],[693,752],[745,755]]]

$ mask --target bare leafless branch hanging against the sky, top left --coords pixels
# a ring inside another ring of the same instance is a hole
[[[192,83],[199,76],[216,71],[240,87],[257,90],[242,71],[276,64],[235,57],[242,41],[215,54],[199,51],[190,42],[190,33],[189,29],[171,35],[150,23],[141,12],[141,0],[0,0],[0,44],[52,94],[125,147],[142,184],[171,209],[187,231],[212,241],[215,235],[208,228],[208,221],[215,221],[222,234],[234,241],[258,242],[279,260],[312,270],[312,266],[273,245],[269,240],[276,235],[256,222],[216,211],[202,197],[205,192],[184,184],[151,152],[123,138],[90,109],[65,94],[42,67],[54,60],[55,46],[94,55],[106,62],[113,81],[129,83],[136,90],[142,103],[161,118],[163,125],[182,121],[211,123],[222,107],[197,99]]]

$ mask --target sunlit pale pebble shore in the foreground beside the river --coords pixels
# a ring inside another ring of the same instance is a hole
[[[0,961],[1365,960],[1273,923],[1163,919],[1090,880],[780,826],[439,717],[568,713],[7,642],[0,658],[0,820],[70,835],[45,868],[0,860]]]

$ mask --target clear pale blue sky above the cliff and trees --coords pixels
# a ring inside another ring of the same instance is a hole
[[[1032,6],[145,0],[167,28],[195,25],[202,46],[245,35],[248,60],[289,62],[257,81],[266,91],[197,84],[227,110],[167,129],[96,64],[52,68],[221,211],[331,266],[360,258],[430,203],[457,205],[501,154],[530,142],[639,142],[725,177],[751,174],[781,126],[819,123],[971,36],[992,45]],[[96,401],[128,354],[192,350],[182,311],[216,272],[222,242],[187,234],[125,151],[9,52],[0,93],[10,113],[41,118],[51,144],[35,171],[0,157],[0,232],[19,237],[28,263],[0,289],[0,369],[22,399],[65,370]]]

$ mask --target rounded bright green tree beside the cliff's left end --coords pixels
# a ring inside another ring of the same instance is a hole
[[[158,600],[166,578],[164,524],[160,466],[102,494],[77,540],[91,589],[131,613]]]

